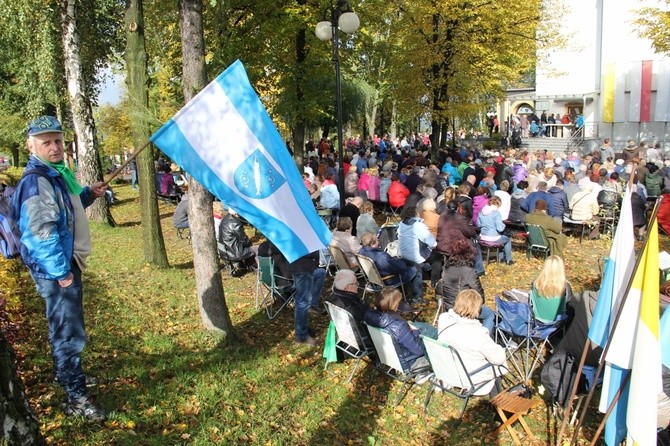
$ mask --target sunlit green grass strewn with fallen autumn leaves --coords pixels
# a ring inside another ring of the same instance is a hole
[[[332,364],[324,371],[321,346],[294,344],[290,309],[268,321],[254,308],[254,274],[233,278],[223,273],[236,340],[223,343],[205,332],[191,247],[177,238],[171,225],[174,208],[160,204],[174,266],[156,269],[142,257],[137,192],[128,186],[116,187],[116,192],[120,200],[113,214],[120,226],[92,225],[94,250],[84,279],[90,336],[84,367],[100,379],[92,393],[111,411],[106,423],[64,417],[65,396],[52,381],[43,303],[32,282],[24,281],[24,326],[15,348],[27,395],[50,443],[511,444],[507,433],[487,436],[496,423],[485,399],[471,401],[459,424],[460,401],[455,397],[435,395],[425,415],[427,388],[414,387],[394,409],[400,385],[379,374],[372,377],[369,365],[350,384],[344,381],[352,363]],[[597,259],[606,249],[607,241],[579,245],[570,240],[566,263],[577,290],[597,288]],[[527,261],[518,250],[515,258],[518,263],[511,268],[487,268],[483,279],[490,302],[505,288],[527,288],[542,264]],[[434,311],[431,303],[421,318],[432,320]],[[327,319],[312,325],[323,340]],[[544,403],[527,419],[543,443],[555,435],[556,421]],[[587,420],[587,435],[599,420]]]

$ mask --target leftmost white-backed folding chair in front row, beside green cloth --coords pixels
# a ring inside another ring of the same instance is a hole
[[[361,330],[361,326],[354,320],[351,313],[330,302],[326,302],[326,309],[328,310],[330,319],[335,324],[335,331],[337,332],[337,344],[335,347],[356,360],[356,365],[351,371],[349,378],[347,378],[347,382],[350,382],[356,373],[361,359],[374,354],[375,349],[372,345],[372,340],[367,333]],[[328,368],[328,364],[326,362],[326,368]]]

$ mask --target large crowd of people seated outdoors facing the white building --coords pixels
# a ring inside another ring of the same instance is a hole
[[[597,222],[599,212],[607,203],[620,207],[624,181],[628,179],[627,175],[633,175],[630,171],[633,161],[624,163],[624,169],[617,172],[616,167],[621,164],[614,162],[605,167],[581,156],[571,155],[563,160],[511,149],[506,153],[487,155],[481,149],[470,148],[465,150],[464,156],[460,150],[440,151],[440,158],[430,160],[427,154],[419,157],[408,152],[395,149],[389,149],[386,154],[375,150],[356,151],[347,159],[350,165],[345,170],[347,175],[342,191],[337,189],[338,170],[330,162],[332,153],[329,153],[328,161],[321,160],[315,166],[317,173],[313,179],[310,175],[305,177],[305,182],[309,182],[305,186],[311,188],[312,193],[317,186],[318,206],[340,211],[331,243],[345,252],[354,268],[358,265],[356,254],[359,254],[372,259],[381,276],[390,276],[385,283],[388,288],[375,290],[374,308],[370,308],[360,298],[356,274],[340,270],[334,277],[333,290],[328,293],[327,301],[349,311],[358,323],[365,320],[369,325],[392,332],[410,367],[429,365],[419,334],[447,342],[459,351],[468,369],[486,363],[504,367],[505,349],[492,336],[495,315],[485,305],[485,290],[480,281],[480,276],[485,273],[480,243],[502,245],[499,260],[513,265],[505,222],[543,227],[551,244],[551,256],[537,278],[528,284],[528,289],[541,319],[553,321],[572,301],[572,290],[562,261],[566,245],[562,228],[564,217],[572,221]],[[629,169],[628,173],[626,169]],[[637,203],[636,226],[640,230],[646,226],[649,184],[651,192],[657,192],[654,175],[658,172],[663,172],[665,177],[662,169],[648,167],[643,180],[633,178],[636,184],[633,188],[633,200]],[[347,198],[341,210],[340,194]],[[609,195],[607,200],[598,199],[605,195]],[[396,256],[379,245],[378,224],[385,216],[375,215],[373,204],[376,202],[402,208]],[[223,222],[221,225],[219,240],[223,240]],[[589,235],[598,237],[597,229],[594,225]],[[222,243],[230,242],[226,239]],[[289,268],[285,259],[281,261],[281,253],[276,248],[259,249],[259,254],[261,252],[276,257],[275,268],[283,268],[284,276],[307,275],[304,280],[308,284],[304,287],[306,297],[302,298],[303,303],[294,315],[295,340],[314,345],[317,334],[305,318],[321,313],[318,304],[325,270],[318,267],[314,255],[303,259],[302,266]],[[437,329],[430,324],[405,319],[403,294],[393,288],[402,282],[408,303],[425,304],[424,272],[426,282],[430,280],[444,302]],[[365,331],[363,324],[360,328]],[[479,378],[489,380],[489,373],[491,371]],[[486,393],[497,390],[498,387],[491,384]]]

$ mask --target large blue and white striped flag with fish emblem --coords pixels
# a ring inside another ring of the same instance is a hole
[[[289,262],[328,246],[330,231],[239,60],[151,141],[258,228]]]

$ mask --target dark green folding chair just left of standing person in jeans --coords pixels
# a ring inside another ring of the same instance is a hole
[[[279,312],[295,300],[293,278],[283,277],[274,272],[272,257],[257,256],[256,308],[265,308],[268,319],[274,319]],[[277,282],[286,285],[280,286]],[[262,295],[262,298],[261,298]]]

